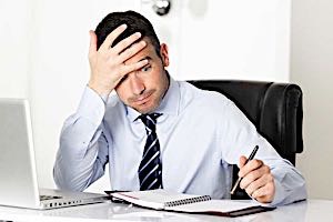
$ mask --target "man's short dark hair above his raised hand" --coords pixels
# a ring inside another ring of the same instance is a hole
[[[112,42],[111,47],[114,47],[121,40],[127,37],[140,32],[141,39],[147,37],[153,44],[157,53],[160,56],[160,40],[153,29],[151,22],[142,14],[135,11],[124,11],[124,12],[111,12],[109,13],[95,28],[95,34],[98,37],[98,49],[115,28],[121,24],[127,24],[128,28]],[[138,40],[139,41],[139,40]]]

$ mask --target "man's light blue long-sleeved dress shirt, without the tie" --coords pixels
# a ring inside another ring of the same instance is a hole
[[[232,171],[241,155],[271,168],[275,179],[272,205],[306,198],[300,172],[281,159],[238,107],[218,92],[170,80],[155,112],[163,188],[184,193],[230,198]],[[140,190],[138,169],[147,139],[140,115],[117,95],[102,99],[85,88],[77,113],[64,122],[54,164],[60,189],[82,191],[104,174],[109,163],[114,190]]]

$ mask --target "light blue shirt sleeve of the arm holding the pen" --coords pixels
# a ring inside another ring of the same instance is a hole
[[[274,176],[275,194],[270,205],[283,205],[306,199],[305,180],[295,167],[280,157],[276,150],[258,133],[254,124],[230,101],[224,110],[220,134],[222,159],[230,164],[239,164],[241,155],[249,157],[259,145],[254,159],[269,165]]]

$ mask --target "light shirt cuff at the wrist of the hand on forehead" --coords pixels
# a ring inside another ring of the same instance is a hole
[[[77,114],[88,119],[91,123],[100,125],[105,113],[107,97],[100,97],[95,91],[85,87]]]

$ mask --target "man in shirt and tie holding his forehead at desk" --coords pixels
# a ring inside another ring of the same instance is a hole
[[[168,47],[144,17],[110,13],[90,37],[91,77],[62,129],[59,188],[82,191],[109,163],[114,190],[163,188],[223,199],[230,198],[230,164],[239,163],[240,186],[254,200],[276,205],[306,198],[302,175],[233,102],[169,75]],[[255,145],[255,159],[245,164]]]

